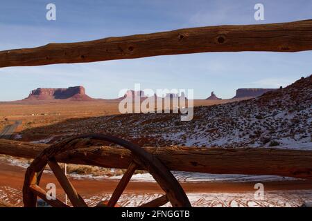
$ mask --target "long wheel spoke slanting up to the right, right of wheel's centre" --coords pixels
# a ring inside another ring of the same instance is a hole
[[[114,193],[112,193],[112,196],[110,198],[110,201],[108,201],[107,206],[114,207],[116,205],[121,194],[125,190],[125,187],[128,185],[133,173],[135,173],[136,169],[137,169],[137,164],[132,161],[130,165],[128,166],[127,171],[125,171],[125,174],[123,174],[123,177],[121,178],[119,184],[116,186]]]

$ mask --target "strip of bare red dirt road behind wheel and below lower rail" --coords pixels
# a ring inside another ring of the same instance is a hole
[[[24,182],[25,169],[18,166],[11,166],[0,163],[0,187],[10,186],[21,191]],[[73,186],[80,195],[98,195],[100,193],[112,193],[119,180],[75,180],[70,179]],[[44,187],[47,183],[53,182],[57,186],[57,194],[64,195],[58,181],[52,174],[44,173],[40,186]],[[182,183],[186,193],[243,193],[254,191],[256,182],[198,182]],[[275,190],[310,190],[312,189],[311,180],[293,180],[262,182],[266,191]],[[59,191],[59,192],[58,192]],[[130,182],[125,189],[125,193],[163,193],[156,183],[153,182]],[[10,195],[10,193],[8,193]],[[19,194],[21,197],[21,193]],[[62,199],[62,198],[61,198]],[[10,202],[14,202],[12,199]]]

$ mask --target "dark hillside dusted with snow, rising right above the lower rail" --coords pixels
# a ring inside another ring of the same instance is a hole
[[[195,107],[190,122],[181,122],[177,114],[125,114],[70,119],[24,133],[44,138],[44,131],[56,137],[109,133],[144,146],[312,148],[311,81],[311,76],[302,78],[286,88],[241,102]]]

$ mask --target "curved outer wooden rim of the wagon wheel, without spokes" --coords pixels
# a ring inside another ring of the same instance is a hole
[[[187,198],[182,186],[177,182],[173,174],[168,170],[168,168],[157,158],[154,157],[152,153],[148,153],[144,151],[143,148],[137,146],[136,144],[132,144],[126,140],[123,140],[119,137],[114,137],[111,135],[99,134],[99,133],[92,133],[92,134],[85,134],[85,135],[77,135],[62,142],[58,142],[57,144],[53,144],[48,148],[44,148],[44,150],[35,157],[35,160],[31,162],[31,164],[26,169],[24,185],[23,185],[23,202],[24,206],[32,207],[34,206],[34,198],[33,194],[31,194],[31,190],[29,189],[29,184],[36,183],[37,173],[41,172],[44,169],[44,166],[48,162],[55,161],[55,157],[58,155],[62,155],[63,153],[67,153],[67,151],[76,151],[80,148],[89,148],[94,144],[92,140],[102,141],[102,142],[112,142],[113,144],[118,144],[122,146],[126,150],[130,151],[130,157],[135,162],[135,164],[139,164],[141,169],[148,171],[150,175],[153,176],[155,181],[159,184],[162,190],[166,193],[168,200],[171,202],[172,206],[174,207],[191,207],[191,203]],[[98,142],[97,142],[98,143]],[[118,148],[118,147],[115,147]],[[68,158],[67,158],[68,159]],[[134,164],[133,164],[134,165]],[[50,166],[53,167],[53,164]],[[57,166],[58,167],[58,166]],[[126,184],[125,180],[130,178],[131,171],[135,169],[135,166],[132,164],[129,166],[128,172],[125,173],[125,179],[121,179],[123,183],[121,186]],[[60,169],[59,169],[60,171]],[[55,173],[55,170],[53,170]],[[127,174],[128,173],[128,174]],[[62,172],[56,175],[60,182],[60,175]],[[32,182],[34,180],[34,182]],[[65,179],[63,179],[65,180]],[[62,184],[62,182],[60,182]],[[64,187],[64,185],[63,185]],[[65,188],[64,188],[65,189]],[[73,189],[73,188],[69,188]],[[117,188],[117,193],[119,189]],[[110,204],[110,202],[109,202]]]

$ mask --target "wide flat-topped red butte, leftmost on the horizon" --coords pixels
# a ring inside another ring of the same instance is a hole
[[[83,86],[75,86],[69,88],[37,88],[32,90],[30,95],[23,100],[92,101],[94,99],[86,95],[85,88]]]

